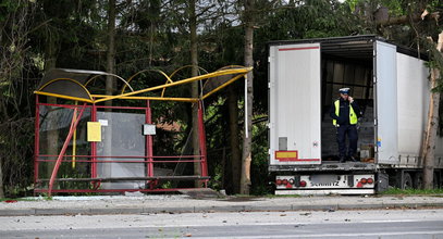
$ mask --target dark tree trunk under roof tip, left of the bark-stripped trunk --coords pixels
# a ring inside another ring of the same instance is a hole
[[[239,193],[241,180],[241,152],[238,140],[238,102],[237,95],[234,90],[234,85],[227,87],[227,111],[230,114],[230,144],[231,144],[231,174],[232,174],[232,191]]]

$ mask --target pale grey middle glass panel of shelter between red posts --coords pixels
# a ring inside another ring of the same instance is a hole
[[[97,161],[101,162],[98,177],[146,177],[145,114],[97,112],[97,120],[101,122],[101,142],[97,143]],[[103,183],[101,186],[102,189],[144,189],[145,181]]]

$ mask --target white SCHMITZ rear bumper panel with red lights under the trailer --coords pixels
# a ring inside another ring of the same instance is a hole
[[[373,174],[320,174],[275,177],[275,194],[372,194]]]

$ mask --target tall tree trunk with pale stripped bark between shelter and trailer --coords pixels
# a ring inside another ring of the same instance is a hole
[[[245,66],[254,65],[254,0],[245,0]],[[245,122],[245,135],[243,138],[243,155],[242,155],[242,177],[241,177],[241,193],[249,194],[250,190],[250,162],[253,161],[253,90],[254,74],[250,71],[247,74],[246,80],[246,98],[245,99],[245,114],[247,121]],[[246,102],[247,101],[247,102]]]

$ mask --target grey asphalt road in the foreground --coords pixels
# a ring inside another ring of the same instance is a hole
[[[0,238],[442,238],[443,210],[0,217]]]

